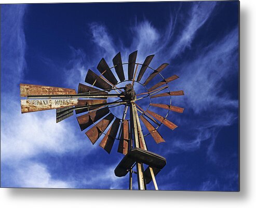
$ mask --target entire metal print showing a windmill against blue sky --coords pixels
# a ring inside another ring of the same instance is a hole
[[[238,98],[238,1],[1,5],[1,187],[239,191]]]

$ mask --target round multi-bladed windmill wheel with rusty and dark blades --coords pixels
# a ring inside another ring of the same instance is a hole
[[[136,144],[132,144],[132,136],[130,135],[134,128],[141,132],[140,124],[138,124],[140,123],[139,120],[149,131],[144,135],[138,134],[139,142],[137,147],[141,149],[146,149],[143,137],[149,134],[157,144],[165,142],[157,132],[161,124],[171,130],[177,128],[176,124],[167,120],[167,116],[170,110],[183,113],[182,107],[171,105],[171,96],[184,95],[184,92],[183,90],[170,91],[168,83],[179,77],[173,75],[164,78],[160,72],[168,64],[161,64],[154,70],[149,66],[153,57],[154,55],[150,55],[145,58],[143,63],[137,63],[137,51],[134,51],[129,55],[128,62],[123,63],[119,52],[113,58],[112,67],[109,67],[104,58],[102,58],[97,66],[99,75],[88,70],[85,78],[87,84],[79,84],[78,86],[78,94],[91,95],[88,100],[78,100],[78,105],[76,106],[76,114],[83,113],[83,115],[77,117],[80,129],[82,131],[86,130],[85,134],[92,144],[95,144],[103,134],[104,136],[99,145],[109,154],[116,140],[119,141],[117,151],[124,155],[127,154],[132,146],[136,146]],[[126,76],[124,67],[127,67]],[[151,73],[145,78],[146,75],[145,77],[143,76],[147,68],[151,70]],[[113,74],[114,70],[117,76]],[[153,79],[156,76],[160,77],[161,81],[154,83]],[[153,86],[148,87],[150,83],[153,83]],[[163,99],[162,97],[168,97],[168,99]],[[161,98],[161,103],[155,102],[159,98]],[[147,103],[144,102],[145,100],[147,100]],[[167,100],[168,103],[163,103],[163,100]],[[142,104],[140,104],[141,101],[143,101]],[[150,110],[151,106],[166,109],[167,113],[165,116],[158,115]],[[130,119],[134,118],[132,113],[137,115],[137,120]],[[130,118],[129,115],[131,115]],[[134,123],[137,124],[134,126]]]

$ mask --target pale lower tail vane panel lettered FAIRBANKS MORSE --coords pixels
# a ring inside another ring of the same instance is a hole
[[[67,106],[74,106],[77,105],[78,99],[42,99],[42,100],[35,100],[35,99],[26,99],[20,100],[21,103],[21,113],[29,113],[29,112],[36,112],[41,110],[49,110],[49,109],[56,109],[62,108]]]

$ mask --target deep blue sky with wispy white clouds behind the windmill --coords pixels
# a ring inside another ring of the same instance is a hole
[[[1,5],[1,187],[128,188],[114,175],[118,143],[109,155],[75,116],[21,114],[19,84],[77,89],[102,57],[112,66],[134,50],[140,63],[155,54],[153,68],[169,63],[162,74],[185,92],[172,98],[184,113],[168,116],[178,128],[160,127],[166,143],[146,137],[167,159],[159,189],[238,190],[236,1]]]

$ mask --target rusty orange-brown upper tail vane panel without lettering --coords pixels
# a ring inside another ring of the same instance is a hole
[[[20,96],[26,97],[30,95],[65,95],[76,94],[74,89],[49,87],[42,85],[20,84]]]

